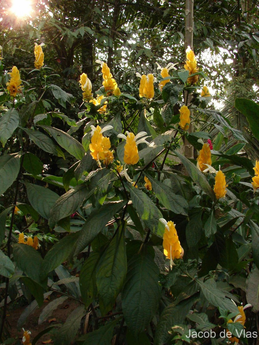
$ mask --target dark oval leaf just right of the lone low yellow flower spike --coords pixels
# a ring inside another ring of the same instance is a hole
[[[200,240],[202,235],[202,210],[190,217],[189,223],[186,226],[185,236],[188,247],[194,247]]]

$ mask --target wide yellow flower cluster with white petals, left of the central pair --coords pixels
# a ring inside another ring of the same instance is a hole
[[[109,150],[111,148],[110,139],[103,136],[103,132],[112,129],[112,126],[105,126],[103,129],[100,126],[92,128],[92,138],[89,149],[91,151],[91,156],[98,161],[101,167],[101,160],[105,162],[106,167],[113,161],[113,151]]]

